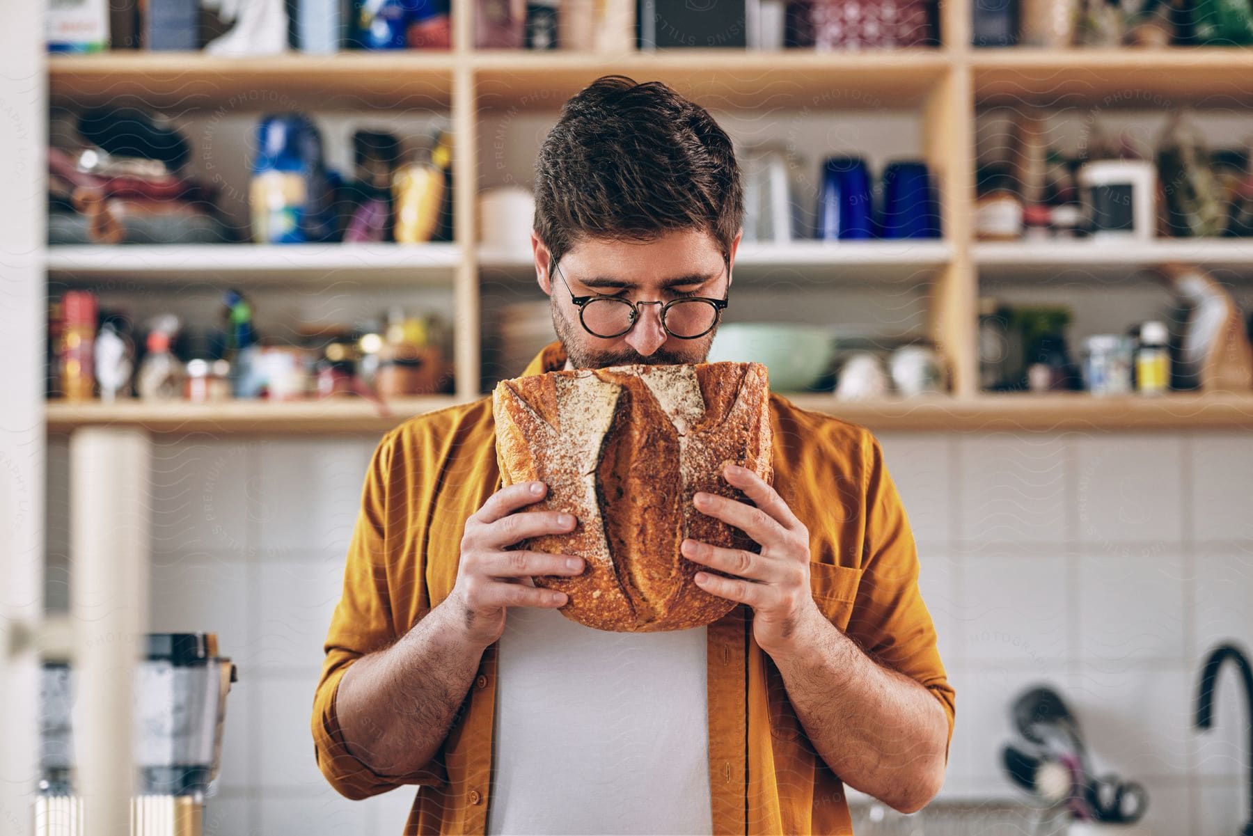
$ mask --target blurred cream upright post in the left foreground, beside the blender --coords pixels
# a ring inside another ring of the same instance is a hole
[[[130,832],[135,662],[148,629],[150,449],[133,429],[70,439],[74,751],[86,832]]]

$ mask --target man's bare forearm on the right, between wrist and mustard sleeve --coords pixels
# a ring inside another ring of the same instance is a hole
[[[911,812],[935,796],[949,718],[923,686],[821,617],[774,663],[814,751],[845,783]]]

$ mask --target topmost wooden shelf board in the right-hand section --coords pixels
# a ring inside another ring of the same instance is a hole
[[[975,99],[985,105],[1162,110],[1253,103],[1249,49],[976,49],[970,60]]]

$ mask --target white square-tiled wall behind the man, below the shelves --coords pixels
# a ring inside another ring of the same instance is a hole
[[[1192,727],[1204,652],[1253,645],[1253,434],[881,434],[957,688],[945,795],[1020,797],[1007,706],[1051,683],[1101,770],[1144,783],[1160,835],[1237,832],[1248,721],[1234,677]],[[216,630],[239,664],[208,833],[401,832],[413,790],[365,802],[318,773],[321,644],[373,442],[163,441],[153,629]],[[49,471],[49,600],[66,593],[64,445]]]

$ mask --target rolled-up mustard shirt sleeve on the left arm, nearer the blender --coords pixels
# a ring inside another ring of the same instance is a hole
[[[392,470],[395,434],[388,434],[375,449],[361,493],[361,509],[343,570],[343,593],[331,617],[326,659],[313,696],[313,752],[318,768],[335,790],[352,800],[393,790],[402,785],[442,785],[444,770],[439,753],[416,772],[385,776],[371,770],[345,743],[336,712],[340,682],[361,657],[396,640],[392,603],[387,583],[390,549],[400,538],[390,530],[395,510],[402,510],[403,496],[392,485],[406,484],[403,474]]]

